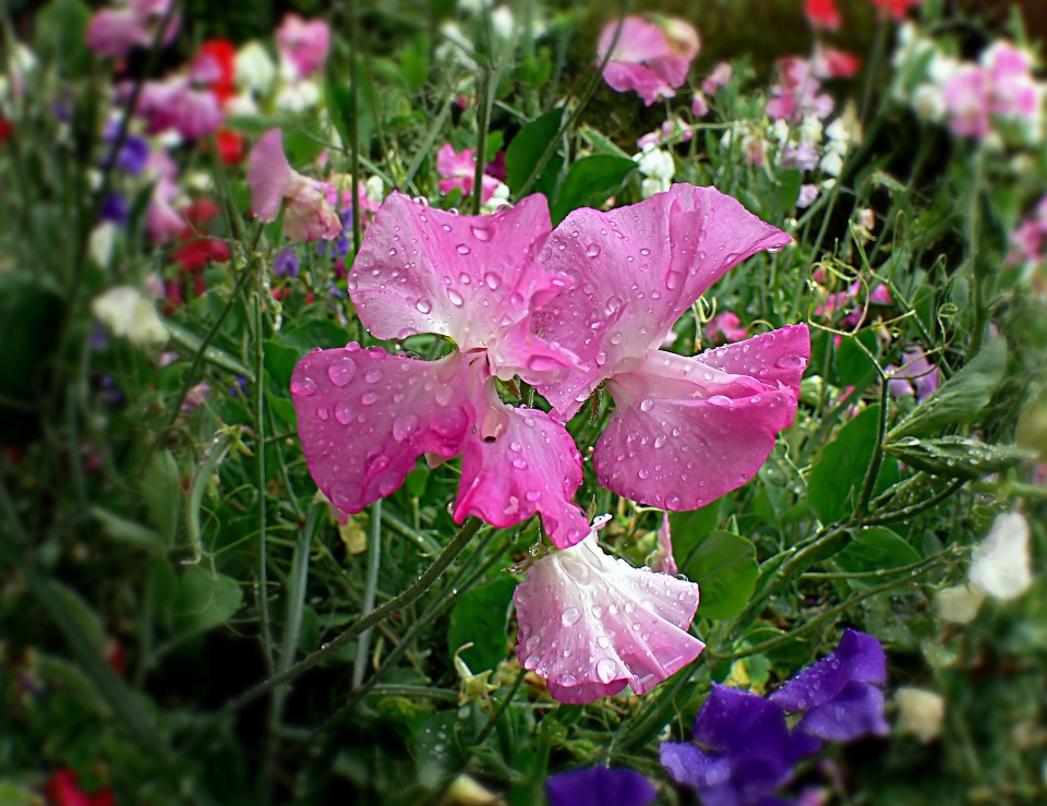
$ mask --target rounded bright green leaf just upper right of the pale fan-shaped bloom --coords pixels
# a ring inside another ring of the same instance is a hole
[[[679,569],[698,582],[698,614],[725,621],[753,597],[759,566],[756,546],[741,534],[717,530],[702,540]]]

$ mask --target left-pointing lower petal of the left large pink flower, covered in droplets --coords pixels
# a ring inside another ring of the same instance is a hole
[[[457,352],[426,362],[357,344],[318,350],[294,368],[291,395],[309,470],[347,513],[393,493],[423,454],[460,453],[474,416]]]

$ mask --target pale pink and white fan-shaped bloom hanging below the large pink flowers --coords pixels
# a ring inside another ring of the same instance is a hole
[[[647,694],[705,649],[687,631],[698,586],[609,556],[597,541],[603,522],[574,548],[534,563],[513,597],[520,665],[570,705],[627,685]]]

